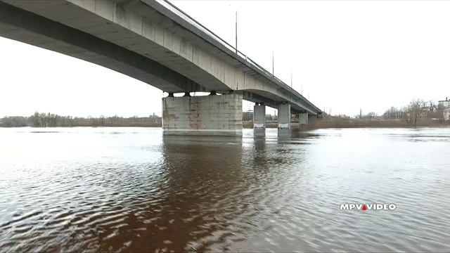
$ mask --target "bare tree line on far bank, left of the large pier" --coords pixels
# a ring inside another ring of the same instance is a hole
[[[65,127],[65,126],[161,126],[157,115],[148,117],[72,117],[35,112],[29,117],[13,116],[0,119],[0,127]]]

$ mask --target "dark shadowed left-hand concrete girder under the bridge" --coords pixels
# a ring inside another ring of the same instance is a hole
[[[1,1],[0,35],[108,67],[163,90],[205,90],[155,60]]]

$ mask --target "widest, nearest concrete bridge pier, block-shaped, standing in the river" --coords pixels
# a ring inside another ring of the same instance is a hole
[[[242,94],[162,98],[165,135],[242,136]]]

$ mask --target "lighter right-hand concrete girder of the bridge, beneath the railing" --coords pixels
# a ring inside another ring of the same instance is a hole
[[[293,94],[285,92],[285,87],[277,86],[264,77],[257,77],[258,74],[249,72],[248,67],[236,63],[236,60],[233,62],[231,56],[226,56],[205,40],[186,32],[180,24],[165,18],[142,1],[43,0],[39,1],[40,5],[32,4],[32,1],[3,1],[155,60],[198,84],[191,85],[190,91],[269,91],[281,100],[290,101],[293,108],[297,108],[298,103],[290,98]],[[146,2],[157,5],[153,1]],[[247,70],[243,70],[243,67]],[[176,90],[166,85],[162,88],[168,92],[186,91],[185,87]],[[307,105],[303,105],[303,108],[307,108]]]

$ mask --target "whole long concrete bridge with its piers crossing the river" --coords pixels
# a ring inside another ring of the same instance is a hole
[[[242,134],[242,100],[265,106],[290,129],[321,110],[164,0],[0,0],[0,36],[64,53],[127,74],[169,93],[164,134]],[[191,92],[210,96],[191,96]],[[174,93],[185,96],[174,97]]]

